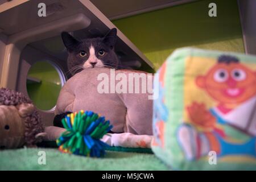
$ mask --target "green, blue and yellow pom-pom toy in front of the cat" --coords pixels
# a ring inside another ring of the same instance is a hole
[[[113,127],[105,117],[81,110],[66,115],[61,122],[67,131],[56,141],[60,151],[92,157],[105,155],[108,144],[100,139]]]

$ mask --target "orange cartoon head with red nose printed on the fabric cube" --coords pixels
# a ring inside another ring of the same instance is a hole
[[[196,78],[196,85],[218,101],[218,108],[225,113],[254,97],[255,84],[256,72],[233,56],[220,56],[207,75]]]

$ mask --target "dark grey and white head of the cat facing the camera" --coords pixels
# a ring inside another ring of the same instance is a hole
[[[121,67],[114,51],[117,40],[116,28],[112,28],[103,38],[77,40],[68,32],[62,32],[61,38],[68,50],[68,70],[72,75],[85,68]]]

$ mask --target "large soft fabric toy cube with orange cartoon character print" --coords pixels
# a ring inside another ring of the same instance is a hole
[[[172,169],[256,169],[256,57],[182,48],[158,73],[156,156]]]

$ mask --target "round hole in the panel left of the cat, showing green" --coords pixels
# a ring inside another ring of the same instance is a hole
[[[31,65],[27,75],[27,93],[36,107],[53,111],[65,76],[51,61],[38,61]]]

